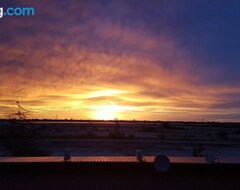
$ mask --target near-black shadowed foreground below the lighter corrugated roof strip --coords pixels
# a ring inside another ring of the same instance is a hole
[[[240,189],[239,164],[172,164],[167,173],[152,163],[60,162],[0,165],[0,189]]]

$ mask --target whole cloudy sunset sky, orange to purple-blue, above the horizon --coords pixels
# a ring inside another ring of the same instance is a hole
[[[240,121],[240,2],[12,0],[0,118]]]

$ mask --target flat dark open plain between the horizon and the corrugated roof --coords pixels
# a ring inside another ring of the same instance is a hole
[[[239,123],[2,120],[0,137],[0,156],[240,156]]]

